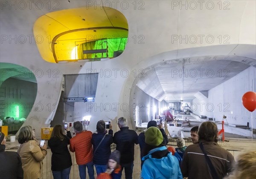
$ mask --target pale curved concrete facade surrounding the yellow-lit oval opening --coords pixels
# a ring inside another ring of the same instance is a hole
[[[11,1],[7,2],[11,3]],[[12,3],[15,2],[17,3],[17,1],[12,1]],[[91,2],[96,3],[96,1]],[[128,8],[120,6],[122,2],[128,2]],[[232,55],[232,57],[256,59],[255,1],[231,1],[228,10],[223,9],[224,4],[220,8],[218,1],[211,1],[214,3],[213,9],[209,9],[206,3],[202,8],[198,4],[197,9],[192,9],[180,6],[180,1],[177,1],[177,6],[174,6],[174,1],[166,0],[136,1],[136,7],[134,2],[119,1],[116,7],[115,3],[112,3],[112,8],[125,15],[129,26],[129,42],[122,55],[104,62],[67,64],[45,62],[38,52],[35,40],[33,38],[32,41],[29,40],[29,35],[33,35],[34,22],[42,15],[56,11],[55,9],[49,9],[47,4],[44,4],[44,9],[36,9],[35,4],[32,4],[31,9],[29,5],[26,9],[15,9],[9,5],[1,6],[1,37],[2,35],[12,37],[16,41],[10,39],[1,41],[0,60],[32,69],[38,82],[35,105],[24,123],[24,125],[32,125],[37,131],[36,135],[39,136],[40,128],[48,127],[50,120],[53,119],[55,106],[52,105],[58,103],[64,74],[91,73],[92,70],[93,73],[104,72],[106,69],[119,70],[117,76],[113,71],[111,77],[104,75],[99,77],[95,102],[118,103],[119,107],[116,111],[96,113],[89,126],[89,130],[93,131],[99,119],[108,117],[116,119],[120,116],[131,118],[130,111],[121,110],[120,105],[124,103],[129,105],[135,79],[134,71],[138,72],[140,69],[163,60],[184,57]],[[188,3],[188,1],[184,2]],[[70,3],[58,1],[58,3],[58,10],[87,5],[87,1],[70,1]],[[224,40],[227,40],[227,38],[224,39],[226,34],[229,36],[229,44],[224,44]],[[20,35],[27,37],[25,43],[17,40]],[[175,37],[181,35],[185,38],[186,35],[197,37],[198,35],[204,35],[204,37],[212,35],[215,40],[212,43],[207,42],[205,38],[202,42],[198,39],[196,43],[191,43],[189,40],[180,42],[180,40],[173,40],[174,35]],[[221,43],[218,39],[220,35]],[[44,40],[48,40],[47,37],[44,37]],[[56,70],[58,74],[55,73]],[[120,74],[122,70],[127,70],[129,75],[126,75],[125,71],[123,71],[124,74]],[[41,71],[43,71],[42,75]],[[42,111],[35,110],[39,103],[44,107]],[[51,106],[50,110],[48,104]],[[129,123],[132,125],[131,121]]]

